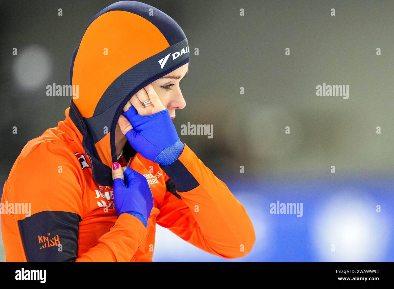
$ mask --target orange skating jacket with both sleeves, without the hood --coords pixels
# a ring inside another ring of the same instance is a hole
[[[1,216],[6,261],[151,261],[156,223],[223,258],[250,252],[255,233],[245,209],[186,144],[179,161],[198,186],[175,191],[159,165],[137,153],[129,166],[147,177],[154,208],[147,228],[129,214],[117,219],[112,187],[93,180],[89,158],[82,169],[84,149],[67,112],[58,127],[26,144],[4,184],[3,204],[32,204],[30,217]]]

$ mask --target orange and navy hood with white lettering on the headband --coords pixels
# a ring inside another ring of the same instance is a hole
[[[70,83],[78,85],[69,116],[83,135],[93,178],[112,186],[115,127],[138,90],[189,62],[188,40],[173,18],[136,1],[116,2],[88,24],[75,48]]]

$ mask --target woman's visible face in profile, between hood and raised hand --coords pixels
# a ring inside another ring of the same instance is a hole
[[[186,106],[179,83],[185,77],[188,68],[189,63],[186,63],[151,83],[164,107],[168,109],[171,119],[175,118],[176,109],[183,109]]]

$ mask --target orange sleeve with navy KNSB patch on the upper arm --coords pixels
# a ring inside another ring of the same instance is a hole
[[[129,214],[120,215],[99,244],[78,258],[83,188],[82,168],[67,145],[43,142],[21,154],[2,203],[31,209],[1,217],[6,261],[130,261],[147,231]]]

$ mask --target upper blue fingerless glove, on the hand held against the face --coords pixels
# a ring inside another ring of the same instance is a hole
[[[125,136],[144,158],[169,166],[182,154],[184,144],[178,137],[168,109],[141,116],[131,106],[123,115],[134,128]]]

